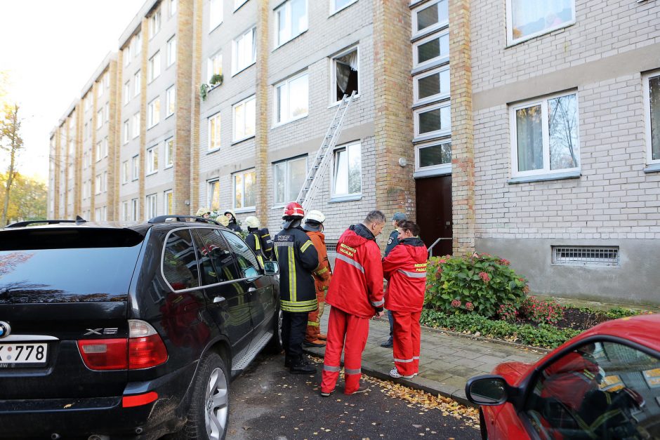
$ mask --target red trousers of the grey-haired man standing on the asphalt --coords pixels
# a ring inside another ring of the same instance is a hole
[[[325,357],[321,392],[331,392],[337,385],[341,362],[341,352],[344,352],[345,394],[353,394],[359,388],[362,377],[362,352],[369,337],[369,318],[355,316],[331,307],[328,321],[328,339],[326,340]]]

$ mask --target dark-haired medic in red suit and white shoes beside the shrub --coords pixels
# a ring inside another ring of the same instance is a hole
[[[388,280],[385,307],[394,316],[394,364],[392,378],[414,378],[419,370],[421,329],[419,318],[426,290],[428,251],[419,238],[419,227],[399,222],[399,244],[383,259]]]

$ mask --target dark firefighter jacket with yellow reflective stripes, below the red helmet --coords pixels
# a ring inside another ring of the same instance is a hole
[[[279,262],[279,298],[284,312],[311,312],[318,306],[312,272],[319,255],[300,227],[282,229],[273,240]]]

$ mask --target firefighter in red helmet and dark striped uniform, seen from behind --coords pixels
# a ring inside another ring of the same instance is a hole
[[[282,231],[273,245],[279,261],[279,295],[282,305],[284,366],[291,373],[316,373],[303,356],[303,340],[308,314],[318,307],[312,272],[319,266],[319,255],[301,227],[303,207],[291,202],[284,207]]]

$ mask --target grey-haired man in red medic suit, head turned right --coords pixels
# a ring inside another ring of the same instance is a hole
[[[383,316],[383,266],[376,236],[387,218],[371,211],[358,225],[350,225],[337,244],[335,269],[326,296],[331,305],[323,360],[321,395],[329,396],[339,378],[344,352],[344,394],[369,390],[360,385],[362,351],[369,336],[369,319]]]

